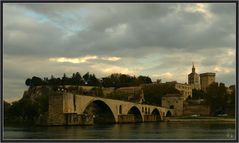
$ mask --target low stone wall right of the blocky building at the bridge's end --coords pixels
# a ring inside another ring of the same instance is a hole
[[[183,115],[209,115],[210,108],[208,105],[189,105],[184,104]]]

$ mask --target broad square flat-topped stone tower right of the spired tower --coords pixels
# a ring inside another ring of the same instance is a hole
[[[206,92],[207,87],[211,83],[215,82],[215,76],[216,76],[215,73],[210,73],[210,72],[200,74],[201,89],[204,92]]]

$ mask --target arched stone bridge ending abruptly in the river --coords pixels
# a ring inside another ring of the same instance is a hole
[[[173,109],[72,93],[49,97],[49,125],[161,121]]]

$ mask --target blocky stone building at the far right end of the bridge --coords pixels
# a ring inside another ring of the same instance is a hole
[[[183,101],[181,94],[166,94],[162,97],[162,107],[174,109],[175,116],[183,115]]]

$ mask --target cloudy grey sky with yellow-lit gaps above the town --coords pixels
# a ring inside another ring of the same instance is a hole
[[[235,31],[230,3],[4,3],[4,100],[21,98],[26,78],[77,71],[184,83],[192,62],[235,84]]]

